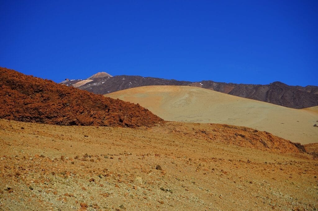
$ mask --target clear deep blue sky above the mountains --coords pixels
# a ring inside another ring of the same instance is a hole
[[[318,86],[318,1],[0,0],[0,66]]]

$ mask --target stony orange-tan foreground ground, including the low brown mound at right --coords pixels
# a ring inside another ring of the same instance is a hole
[[[244,127],[2,119],[0,147],[1,210],[318,208],[318,161],[287,140]]]

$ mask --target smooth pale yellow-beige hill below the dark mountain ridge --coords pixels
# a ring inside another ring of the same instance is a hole
[[[286,108],[190,86],[143,86],[105,96],[139,103],[169,121],[247,126],[301,144],[318,142],[315,108]]]

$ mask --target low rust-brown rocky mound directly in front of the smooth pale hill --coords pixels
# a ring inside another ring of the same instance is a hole
[[[306,152],[299,143],[293,143],[284,138],[274,136],[266,131],[258,131],[248,127],[224,125],[224,124],[200,124],[200,123],[166,123],[163,127],[153,128],[166,134],[189,139],[206,140],[209,143],[219,141],[225,144],[238,145],[262,151],[274,153],[297,154]]]

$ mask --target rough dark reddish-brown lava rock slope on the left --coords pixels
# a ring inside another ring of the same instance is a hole
[[[55,125],[153,126],[139,104],[95,95],[0,67],[0,118]]]

